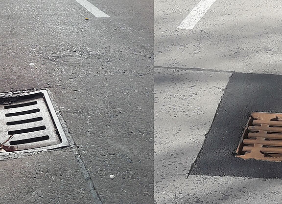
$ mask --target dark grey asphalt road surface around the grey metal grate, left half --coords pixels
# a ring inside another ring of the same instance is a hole
[[[153,2],[89,3],[0,1],[0,92],[49,89],[78,150],[1,161],[1,203],[153,202]]]

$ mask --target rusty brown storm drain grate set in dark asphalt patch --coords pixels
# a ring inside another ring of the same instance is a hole
[[[236,157],[282,161],[282,114],[253,112],[236,150]]]

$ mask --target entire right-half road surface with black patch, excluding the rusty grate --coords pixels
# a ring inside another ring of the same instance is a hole
[[[281,8],[155,1],[155,203],[281,203],[281,163],[235,158],[251,112],[282,112]]]

